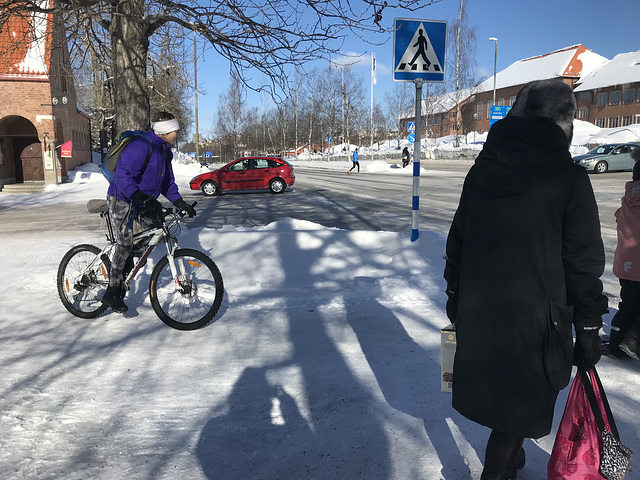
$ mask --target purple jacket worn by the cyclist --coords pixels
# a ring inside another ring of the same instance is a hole
[[[147,131],[147,134],[153,145],[147,168],[143,171],[149,144],[144,138],[136,138],[122,151],[107,194],[131,203],[131,195],[140,190],[154,198],[164,195],[174,203],[182,197],[178,192],[171,167],[171,145],[151,130]]]

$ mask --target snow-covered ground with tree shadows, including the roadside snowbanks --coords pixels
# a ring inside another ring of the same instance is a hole
[[[198,169],[176,164],[182,189]],[[104,196],[95,166],[72,177],[38,203]],[[23,199],[0,196],[0,209]],[[443,233],[412,243],[406,233],[292,219],[184,225],[180,244],[207,252],[225,281],[217,320],[195,332],[166,327],[151,308],[158,257],[127,314],[81,320],[58,299],[56,269],[100,232],[0,232],[0,478],[479,478],[489,432],[440,392]],[[637,456],[640,362],[603,358],[599,371]],[[520,479],[546,478],[553,440],[525,442]],[[640,479],[640,467],[626,479]]]

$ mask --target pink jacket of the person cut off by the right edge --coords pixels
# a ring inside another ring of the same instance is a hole
[[[613,273],[618,278],[640,282],[640,180],[626,183],[616,222],[618,246]]]

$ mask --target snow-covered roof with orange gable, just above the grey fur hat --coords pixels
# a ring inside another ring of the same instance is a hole
[[[607,61],[584,45],[574,45],[511,64],[496,74],[496,89],[524,85],[535,80],[580,78]],[[476,92],[492,90],[493,76],[478,85]]]

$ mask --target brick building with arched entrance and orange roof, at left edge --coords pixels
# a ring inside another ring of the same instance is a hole
[[[0,32],[0,189],[58,183],[91,161],[89,116],[77,108],[59,25],[52,15],[14,16]],[[69,141],[72,155],[62,157]]]

